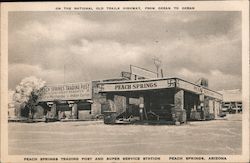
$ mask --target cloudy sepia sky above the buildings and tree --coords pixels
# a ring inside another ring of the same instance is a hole
[[[213,90],[241,88],[241,14],[218,12],[10,12],[8,83],[120,77],[136,65]]]

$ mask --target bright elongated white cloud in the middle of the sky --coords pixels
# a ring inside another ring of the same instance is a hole
[[[142,47],[136,47],[131,44],[120,44],[119,42],[109,40],[91,42],[82,39],[80,45],[71,46],[70,49],[71,54],[75,54],[80,59],[91,64],[101,66],[106,61],[110,62],[110,66],[114,67],[119,66],[122,62],[132,63],[139,60],[144,52]]]

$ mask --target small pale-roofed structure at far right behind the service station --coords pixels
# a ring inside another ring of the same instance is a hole
[[[228,113],[242,112],[242,91],[240,89],[218,91],[223,95],[222,110]]]

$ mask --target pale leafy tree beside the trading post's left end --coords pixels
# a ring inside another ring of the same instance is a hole
[[[29,118],[33,118],[34,109],[44,85],[45,81],[42,79],[30,76],[22,79],[16,86],[14,101],[20,106],[20,111],[25,108],[29,109]]]

